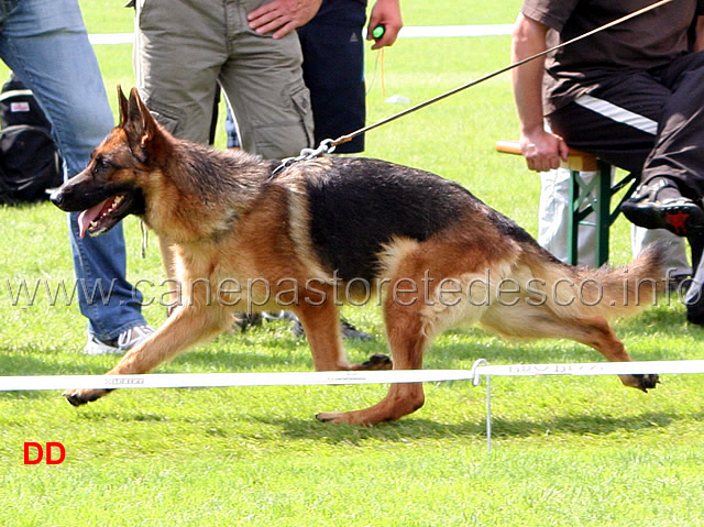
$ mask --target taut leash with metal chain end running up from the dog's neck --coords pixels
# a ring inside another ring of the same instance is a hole
[[[476,80],[472,80],[470,83],[466,83],[466,84],[464,84],[462,86],[459,86],[458,88],[454,88],[454,89],[452,89],[450,91],[446,91],[444,94],[441,94],[441,95],[439,95],[437,97],[428,99],[428,100],[426,100],[424,102],[420,102],[420,103],[418,103],[416,106],[407,108],[406,110],[399,111],[398,113],[395,113],[395,114],[393,114],[391,117],[387,117],[386,119],[377,121],[374,124],[370,124],[367,127],[361,128],[361,129],[359,129],[359,130],[356,130],[356,131],[354,131],[352,133],[349,133],[346,135],[341,135],[340,138],[336,139],[334,141],[331,140],[331,139],[326,139],[326,140],[320,142],[320,145],[317,149],[304,149],[304,150],[300,151],[300,155],[298,155],[296,157],[286,157],[285,160],[283,160],[282,164],[274,169],[274,173],[272,175],[278,173],[279,171],[283,171],[284,168],[286,168],[287,166],[290,166],[294,163],[298,163],[299,161],[311,160],[311,158],[317,157],[317,156],[319,156],[321,154],[331,154],[334,151],[336,146],[338,146],[339,144],[352,141],[354,138],[356,138],[358,135],[360,135],[362,133],[369,132],[369,131],[374,130],[374,129],[376,129],[378,127],[387,124],[387,123],[389,123],[392,121],[395,121],[396,119],[400,119],[402,117],[405,117],[405,116],[407,116],[409,113],[413,113],[413,112],[418,111],[418,110],[420,110],[422,108],[426,108],[427,106],[430,106],[430,105],[433,105],[433,103],[436,103],[438,101],[441,101],[442,99],[447,99],[450,96],[459,94],[460,91],[463,91],[463,90],[465,90],[468,88],[472,88],[473,86],[476,86],[476,85],[479,85],[481,83],[484,83],[485,80],[492,79],[492,78],[494,78],[494,77],[496,77],[496,76],[498,76],[501,74],[504,74],[504,73],[509,72],[509,70],[512,70],[514,68],[522,66],[526,63],[535,61],[536,58],[540,58],[540,57],[543,57],[546,55],[549,55],[550,53],[556,52],[558,50],[561,50],[563,47],[566,47],[570,44],[574,44],[575,42],[579,42],[581,40],[587,39],[588,36],[592,36],[592,35],[594,35],[596,33],[600,33],[600,32],[605,31],[605,30],[607,30],[609,28],[613,28],[614,25],[617,25],[617,24],[620,24],[623,22],[626,22],[626,21],[628,21],[628,20],[630,20],[632,18],[636,18],[636,17],[638,17],[640,14],[644,14],[644,13],[647,13],[649,11],[652,11],[653,9],[657,9],[657,8],[661,7],[661,6],[670,3],[673,0],[660,0],[660,1],[656,2],[656,3],[650,4],[650,6],[646,6],[645,8],[641,8],[638,11],[634,11],[632,13],[626,14],[625,17],[622,17],[620,19],[617,19],[617,20],[614,20],[612,22],[608,22],[608,23],[606,23],[604,25],[601,25],[600,28],[596,28],[596,29],[594,29],[592,31],[587,31],[586,33],[584,33],[582,35],[575,36],[574,39],[571,39],[571,40],[569,40],[566,42],[563,42],[562,44],[558,44],[557,46],[552,46],[549,50],[546,50],[543,52],[537,53],[537,54],[535,54],[535,55],[532,55],[530,57],[524,58],[522,61],[518,61],[517,63],[509,64],[508,66],[505,66],[505,67],[503,67],[501,69],[497,69],[496,72],[487,74],[484,77],[481,77],[481,78],[479,78]]]

